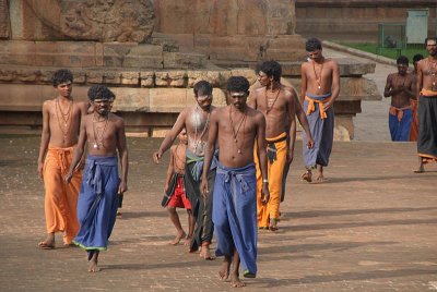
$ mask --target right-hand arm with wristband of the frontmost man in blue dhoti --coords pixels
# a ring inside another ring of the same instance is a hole
[[[265,118],[261,112],[257,117],[257,145],[258,159],[260,162],[260,171],[262,179],[261,202],[263,205],[269,203],[269,174],[267,170],[267,150],[265,150]]]

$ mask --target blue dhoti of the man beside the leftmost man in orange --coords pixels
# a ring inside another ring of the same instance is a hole
[[[81,226],[73,243],[92,251],[106,251],[118,208],[117,157],[88,156],[78,200]]]

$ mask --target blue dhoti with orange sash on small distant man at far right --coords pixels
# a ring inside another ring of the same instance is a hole
[[[413,110],[411,106],[405,108],[390,107],[389,129],[391,141],[410,141],[411,122]]]

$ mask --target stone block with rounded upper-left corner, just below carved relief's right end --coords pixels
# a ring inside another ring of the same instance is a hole
[[[162,69],[163,61],[163,48],[161,46],[140,45],[126,54],[122,66]]]

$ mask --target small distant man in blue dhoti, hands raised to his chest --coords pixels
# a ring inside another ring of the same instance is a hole
[[[414,75],[406,72],[409,69],[409,58],[400,56],[397,60],[398,73],[391,73],[387,76],[383,96],[391,96],[391,106],[389,110],[389,129],[391,141],[410,141],[411,122],[413,120],[413,110],[410,98],[416,92]]]

